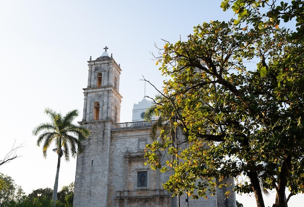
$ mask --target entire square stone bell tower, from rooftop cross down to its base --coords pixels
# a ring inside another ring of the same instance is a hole
[[[88,61],[84,112],[80,125],[91,135],[83,142],[84,153],[77,156],[73,207],[106,207],[111,127],[119,122],[120,66],[109,57],[107,47],[101,57]]]

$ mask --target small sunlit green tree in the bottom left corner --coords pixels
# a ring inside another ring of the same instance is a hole
[[[20,186],[12,177],[0,173],[0,207],[5,207],[11,201],[19,201],[24,195]]]

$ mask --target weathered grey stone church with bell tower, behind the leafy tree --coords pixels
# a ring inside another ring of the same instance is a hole
[[[104,49],[101,57],[88,61],[80,125],[91,135],[77,157],[73,207],[236,207],[235,196],[226,197],[223,189],[198,200],[188,199],[186,193],[172,197],[164,190],[170,172],[144,164],[153,124],[144,121],[144,113],[153,103],[139,101],[132,122],[119,123],[121,68]]]

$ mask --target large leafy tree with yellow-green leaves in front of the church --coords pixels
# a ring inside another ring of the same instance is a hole
[[[164,185],[174,194],[212,195],[227,177],[244,175],[235,191],[253,192],[264,207],[262,191],[275,189],[273,206],[286,207],[304,192],[304,2],[221,6],[238,18],[203,23],[187,41],[161,50],[157,64],[168,80],[155,113],[171,124],[146,157],[152,168],[174,171]],[[184,140],[172,136],[177,127]],[[157,151],[176,159],[162,165]]]

